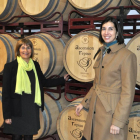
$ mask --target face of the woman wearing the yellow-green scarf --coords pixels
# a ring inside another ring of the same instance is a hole
[[[19,54],[23,60],[25,60],[26,62],[29,62],[29,59],[30,59],[31,54],[32,54],[32,49],[30,46],[23,44],[19,49]]]

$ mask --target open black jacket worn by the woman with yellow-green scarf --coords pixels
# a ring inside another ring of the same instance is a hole
[[[46,79],[43,75],[38,62],[34,61],[39,85],[41,90],[41,108],[44,110],[44,90],[43,87],[53,87],[64,85],[63,77],[57,79]],[[4,119],[10,119],[12,116],[22,116],[21,112],[21,95],[15,94],[16,76],[18,63],[17,60],[5,64],[3,72],[3,89],[2,89],[2,105]]]

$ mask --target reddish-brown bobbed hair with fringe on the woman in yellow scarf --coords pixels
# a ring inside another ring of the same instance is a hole
[[[31,52],[30,58],[33,58],[33,56],[34,56],[33,44],[32,44],[32,42],[31,42],[29,39],[27,39],[27,38],[20,39],[20,40],[17,42],[17,44],[16,44],[16,49],[15,49],[15,57],[20,56],[19,49],[20,49],[20,47],[21,47],[23,44],[25,44],[25,45],[31,47],[32,52]]]

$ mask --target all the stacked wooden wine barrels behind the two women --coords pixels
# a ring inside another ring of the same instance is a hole
[[[139,2],[131,0],[136,6]],[[31,18],[14,18],[10,23],[22,23],[47,20],[59,20],[60,15],[55,12],[60,12],[63,15],[63,20],[68,21],[70,11],[76,9],[80,13],[88,16],[97,15],[107,8],[117,6],[129,6],[130,0],[1,0],[0,1],[0,22],[8,22],[12,17],[19,15],[29,15]],[[129,11],[125,11],[127,15]],[[138,11],[139,12],[139,11]],[[119,10],[109,10],[101,16],[118,16]],[[79,17],[73,13],[71,18]],[[58,37],[58,32],[51,32],[52,35]],[[19,34],[12,34],[19,36]],[[137,56],[137,84],[140,85],[140,44],[137,34],[132,38],[126,47],[134,52]],[[45,77],[51,75],[64,75],[67,71],[71,77],[80,82],[91,82],[94,80],[95,73],[93,65],[94,55],[102,44],[99,42],[99,32],[85,31],[79,33],[72,38],[63,34],[59,39],[54,39],[51,35],[40,33],[36,35],[26,36],[30,39],[34,46],[34,60],[38,61]],[[0,74],[3,74],[5,63],[15,59],[15,46],[17,39],[14,39],[8,34],[0,34]],[[45,110],[40,111],[41,128],[34,139],[42,138],[46,135],[51,135],[56,132],[56,128],[61,140],[80,139],[83,135],[86,116],[88,110],[82,110],[80,117],[75,115],[75,105],[79,104],[82,98],[71,103],[65,100],[64,93],[59,101],[54,101],[49,95],[57,97],[55,93],[48,92],[45,96]],[[70,98],[71,95],[69,95]],[[136,105],[136,104],[135,104]],[[134,106],[135,106],[134,105]],[[137,104],[138,105],[138,104]],[[134,107],[133,107],[134,108]],[[135,114],[135,117],[132,118]],[[139,112],[131,111],[130,127],[135,130],[136,123],[139,123]],[[0,88],[0,115],[2,115],[2,88]],[[3,127],[3,116],[0,116],[0,127]],[[56,126],[57,122],[57,126]],[[65,122],[65,123],[64,123]],[[139,127],[139,125],[137,125]],[[138,128],[136,128],[138,129]],[[137,131],[137,130],[136,130]],[[131,140],[131,133],[128,134]],[[139,136],[137,136],[139,137]],[[130,139],[128,139],[130,140]]]

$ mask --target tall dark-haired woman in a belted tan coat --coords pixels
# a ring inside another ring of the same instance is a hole
[[[137,60],[125,48],[117,20],[107,17],[99,40],[104,45],[95,55],[93,86],[76,107],[89,109],[82,140],[127,140],[128,117],[134,99]]]

